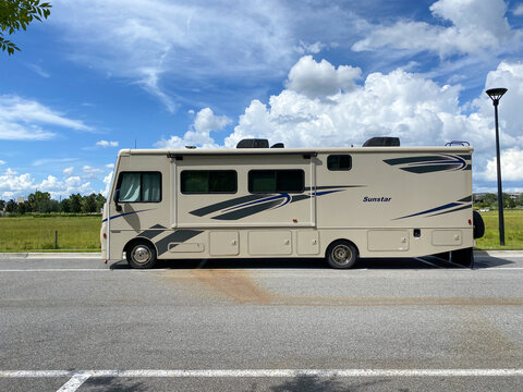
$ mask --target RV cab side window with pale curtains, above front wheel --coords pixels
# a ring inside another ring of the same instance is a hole
[[[161,201],[161,173],[123,172],[118,181],[121,203]]]

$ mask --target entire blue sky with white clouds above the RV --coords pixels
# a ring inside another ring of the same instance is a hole
[[[50,0],[0,52],[0,198],[102,193],[119,149],[467,140],[523,192],[523,2]]]

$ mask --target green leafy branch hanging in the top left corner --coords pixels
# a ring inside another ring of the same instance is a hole
[[[40,4],[40,0],[0,0],[0,47],[8,54],[14,54],[20,48],[4,38],[19,29],[26,29],[33,20],[41,22],[47,19],[52,5],[48,2]]]

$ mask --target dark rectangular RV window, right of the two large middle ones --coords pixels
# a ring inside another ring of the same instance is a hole
[[[302,193],[305,188],[303,170],[251,170],[250,193]]]

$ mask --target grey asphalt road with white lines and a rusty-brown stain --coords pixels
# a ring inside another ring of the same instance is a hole
[[[523,390],[522,256],[0,259],[0,390]]]

